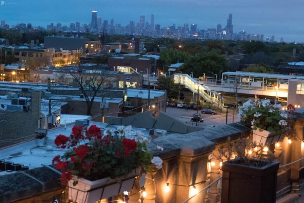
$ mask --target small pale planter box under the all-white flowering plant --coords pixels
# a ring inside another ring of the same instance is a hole
[[[259,131],[259,129],[257,129],[252,130],[252,132],[252,141],[262,145],[271,145],[276,142],[282,142],[285,137],[284,133],[277,134],[274,132],[269,132],[267,130]]]

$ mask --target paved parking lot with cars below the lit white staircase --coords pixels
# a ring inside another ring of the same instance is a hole
[[[201,117],[204,118],[204,122],[198,123],[199,126],[214,127],[226,124],[226,110],[222,110],[222,114],[219,112],[216,115],[211,114],[202,114],[201,111],[198,111],[201,114]],[[187,125],[194,126],[196,122],[190,121],[190,118],[193,117],[193,114],[196,113],[196,110],[184,109],[184,108],[174,108],[167,107],[167,114],[171,117],[174,117]],[[227,123],[232,123],[233,121],[233,111],[228,109]],[[240,118],[237,117],[237,112],[234,114],[234,122],[240,121]]]

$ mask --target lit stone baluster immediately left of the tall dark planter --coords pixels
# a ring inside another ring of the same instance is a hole
[[[216,157],[219,157],[219,151],[218,150],[213,151],[213,157],[211,159],[210,183],[212,183],[214,180],[216,180],[220,176],[220,173],[219,173],[220,160],[218,160]],[[218,202],[219,198],[220,198],[219,191],[217,189],[217,184],[218,184],[218,182],[215,182],[208,189],[208,195],[209,195],[209,199],[210,199],[211,203]]]

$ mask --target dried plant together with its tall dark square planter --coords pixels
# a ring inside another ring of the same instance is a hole
[[[279,162],[268,147],[251,139],[228,140],[222,154],[227,161],[222,166],[221,203],[275,203]]]

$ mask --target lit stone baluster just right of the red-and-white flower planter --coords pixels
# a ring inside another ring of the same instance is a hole
[[[154,176],[156,172],[157,171],[151,171],[146,174],[144,188],[147,193],[147,196],[143,198],[143,203],[155,203],[156,186]]]

